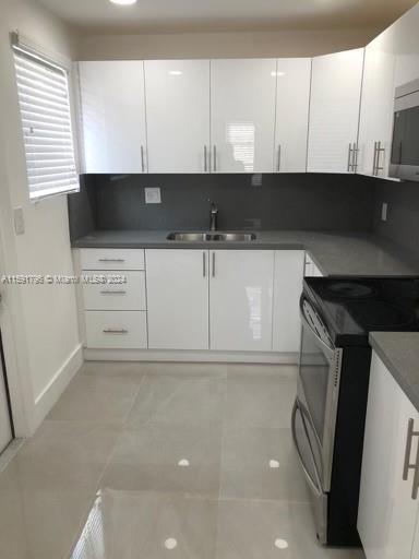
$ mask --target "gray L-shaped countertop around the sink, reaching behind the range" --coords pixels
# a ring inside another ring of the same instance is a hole
[[[307,230],[255,231],[251,242],[167,240],[168,230],[98,230],[73,241],[73,248],[195,248],[307,250],[321,272],[331,276],[419,275],[419,260],[368,234]]]

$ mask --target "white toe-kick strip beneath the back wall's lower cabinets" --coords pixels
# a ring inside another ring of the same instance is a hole
[[[155,349],[84,349],[86,361],[200,361],[296,365],[298,354],[256,352],[185,352]]]

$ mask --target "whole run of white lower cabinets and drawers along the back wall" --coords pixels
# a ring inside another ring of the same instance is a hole
[[[125,278],[82,284],[89,349],[299,350],[302,250],[82,249],[80,263]]]

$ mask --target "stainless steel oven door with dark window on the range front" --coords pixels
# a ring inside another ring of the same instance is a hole
[[[312,459],[322,490],[330,491],[342,349],[334,347],[320,312],[301,297],[301,350],[298,396],[304,415]]]

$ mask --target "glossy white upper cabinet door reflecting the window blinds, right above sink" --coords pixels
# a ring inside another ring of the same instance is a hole
[[[272,173],[276,60],[211,61],[212,171]]]

